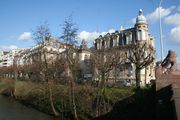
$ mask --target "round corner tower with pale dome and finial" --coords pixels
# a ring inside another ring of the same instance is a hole
[[[136,18],[136,40],[144,41],[148,40],[148,23],[146,17],[143,15],[142,9],[139,10],[139,15]]]

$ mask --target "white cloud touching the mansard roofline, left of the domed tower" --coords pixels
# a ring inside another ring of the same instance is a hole
[[[108,30],[109,33],[113,33],[115,32],[114,29],[109,29]],[[78,34],[78,38],[79,40],[86,40],[88,42],[92,42],[94,41],[94,39],[98,38],[99,35],[105,35],[108,32],[87,32],[87,31],[82,31]]]

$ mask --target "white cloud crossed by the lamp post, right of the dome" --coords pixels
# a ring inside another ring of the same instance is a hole
[[[171,14],[172,10],[174,10],[176,7],[175,6],[171,6],[169,8],[162,8],[162,7],[158,7],[156,8],[152,13],[147,14],[147,20],[149,22],[156,22],[159,19],[159,10],[161,12],[161,18],[164,18],[166,16],[168,16],[169,14]]]

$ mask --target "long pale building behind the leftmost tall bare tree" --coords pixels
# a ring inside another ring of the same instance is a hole
[[[58,54],[63,52],[66,44],[59,42],[54,38],[45,40],[42,44],[38,44],[30,49],[22,49],[16,55],[14,62],[16,65],[32,64],[38,61],[53,62],[58,59]]]

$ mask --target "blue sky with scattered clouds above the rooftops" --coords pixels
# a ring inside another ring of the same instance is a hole
[[[52,35],[62,33],[60,24],[70,14],[79,28],[80,38],[92,39],[99,34],[134,26],[139,9],[143,9],[149,32],[156,38],[160,58],[159,0],[0,0],[0,50],[34,46],[32,30],[44,21]],[[180,58],[180,0],[162,2],[164,56],[169,49]],[[180,59],[179,59],[180,61]]]

